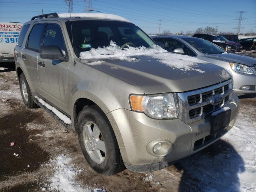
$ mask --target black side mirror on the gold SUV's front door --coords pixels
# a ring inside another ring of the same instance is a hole
[[[51,59],[51,60],[55,59],[55,60],[61,60],[61,61],[66,60],[66,56],[58,46],[53,46],[53,45],[41,46],[39,50],[39,54],[42,59]]]

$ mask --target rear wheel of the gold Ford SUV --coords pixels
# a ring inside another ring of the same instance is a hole
[[[20,82],[20,94],[22,96],[22,100],[27,108],[38,108],[38,105],[34,102],[32,92],[28,85],[28,81],[24,75],[24,73],[20,74],[19,78]]]

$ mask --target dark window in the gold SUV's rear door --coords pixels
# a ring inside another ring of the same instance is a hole
[[[28,48],[38,51],[42,44],[42,32],[44,30],[44,24],[36,24],[33,26],[28,37]]]

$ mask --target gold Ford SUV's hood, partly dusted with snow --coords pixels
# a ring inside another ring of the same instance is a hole
[[[80,60],[88,66],[106,72],[116,78],[126,80],[140,87],[145,94],[166,92],[185,92],[228,80],[230,75],[223,68],[206,63],[194,57],[166,53],[164,58],[173,56],[166,62],[155,55],[133,56],[135,60],[101,58],[99,60]],[[194,66],[187,68],[188,59],[197,60]],[[177,63],[184,68],[177,68]]]

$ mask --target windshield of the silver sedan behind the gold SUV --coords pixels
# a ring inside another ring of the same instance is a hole
[[[218,54],[225,51],[215,44],[200,38],[184,38],[186,42],[204,54]]]

